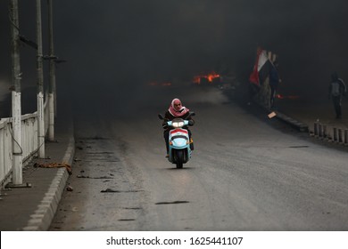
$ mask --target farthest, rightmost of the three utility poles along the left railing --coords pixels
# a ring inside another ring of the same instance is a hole
[[[48,92],[48,140],[54,141],[54,116],[56,116],[55,56],[54,56],[54,18],[52,0],[48,4],[48,42],[49,42],[49,92]]]

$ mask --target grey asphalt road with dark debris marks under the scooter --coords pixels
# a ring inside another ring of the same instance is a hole
[[[103,110],[91,103],[75,113],[73,191],[50,230],[348,229],[346,152],[254,116],[215,88],[154,92],[134,106],[104,100]],[[196,113],[183,169],[164,157],[157,118],[177,96]]]

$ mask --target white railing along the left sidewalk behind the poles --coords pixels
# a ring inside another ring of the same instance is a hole
[[[45,102],[45,133],[48,130],[48,105]],[[22,166],[29,164],[37,155],[37,112],[21,116],[21,152]],[[12,117],[0,119],[0,190],[12,181]]]

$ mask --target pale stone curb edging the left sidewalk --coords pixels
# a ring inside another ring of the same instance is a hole
[[[68,148],[62,158],[63,163],[72,164],[75,155],[75,140],[73,136],[70,138]],[[47,190],[45,197],[42,199],[35,213],[30,215],[28,225],[22,230],[25,231],[43,231],[47,230],[54,219],[59,202],[62,197],[62,192],[69,178],[69,173],[65,168],[57,169],[54,181]]]

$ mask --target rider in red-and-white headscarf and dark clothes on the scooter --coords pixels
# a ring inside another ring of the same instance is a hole
[[[162,127],[165,129],[165,131],[163,132],[163,136],[164,136],[164,141],[166,142],[166,148],[167,148],[167,156],[169,157],[169,139],[170,139],[170,129],[172,129],[171,127],[168,127],[167,125],[167,121],[168,120],[173,120],[174,118],[182,118],[182,119],[186,119],[188,120],[188,125],[192,126],[195,124],[195,120],[192,119],[191,116],[189,116],[189,109],[186,107],[182,106],[182,103],[179,99],[174,99],[171,100],[170,103],[170,108],[168,108],[168,110],[166,111],[165,115],[164,115],[164,121],[162,123]],[[187,129],[188,131],[188,136],[190,138],[190,148],[192,150],[194,150],[194,143],[192,141],[192,136],[191,136],[191,131],[188,129],[188,127],[184,126],[184,129]]]

